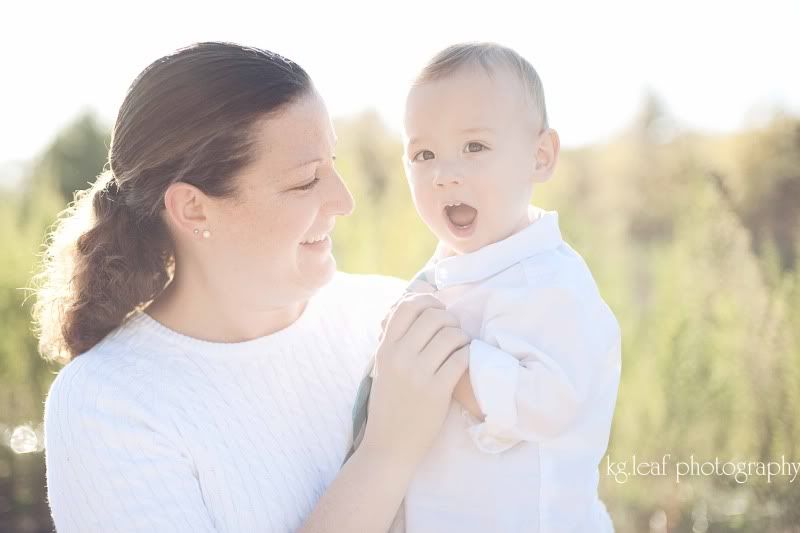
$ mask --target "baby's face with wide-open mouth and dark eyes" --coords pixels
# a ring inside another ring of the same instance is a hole
[[[464,67],[411,89],[405,168],[420,217],[469,253],[528,225],[539,134],[522,83]]]

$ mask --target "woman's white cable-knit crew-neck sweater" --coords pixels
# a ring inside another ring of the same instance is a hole
[[[45,402],[59,533],[292,531],[350,446],[359,380],[405,283],[337,273],[288,328],[223,344],[134,315]]]

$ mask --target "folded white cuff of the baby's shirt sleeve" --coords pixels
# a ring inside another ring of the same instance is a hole
[[[500,453],[521,440],[513,431],[517,422],[518,376],[516,357],[480,339],[470,343],[469,378],[485,420],[465,416],[470,424],[467,431],[481,451]]]

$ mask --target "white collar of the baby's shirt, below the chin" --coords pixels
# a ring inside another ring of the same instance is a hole
[[[474,252],[447,256],[441,244],[420,275],[438,290],[489,278],[510,266],[563,242],[558,228],[558,213],[529,206],[531,224],[521,231]]]

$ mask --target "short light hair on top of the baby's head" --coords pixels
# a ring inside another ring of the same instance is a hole
[[[426,64],[414,79],[412,86],[449,76],[466,66],[480,66],[490,76],[498,66],[510,69],[522,82],[527,95],[532,99],[542,129],[548,128],[547,108],[544,103],[544,87],[536,69],[516,50],[489,42],[468,42],[448,46]]]

